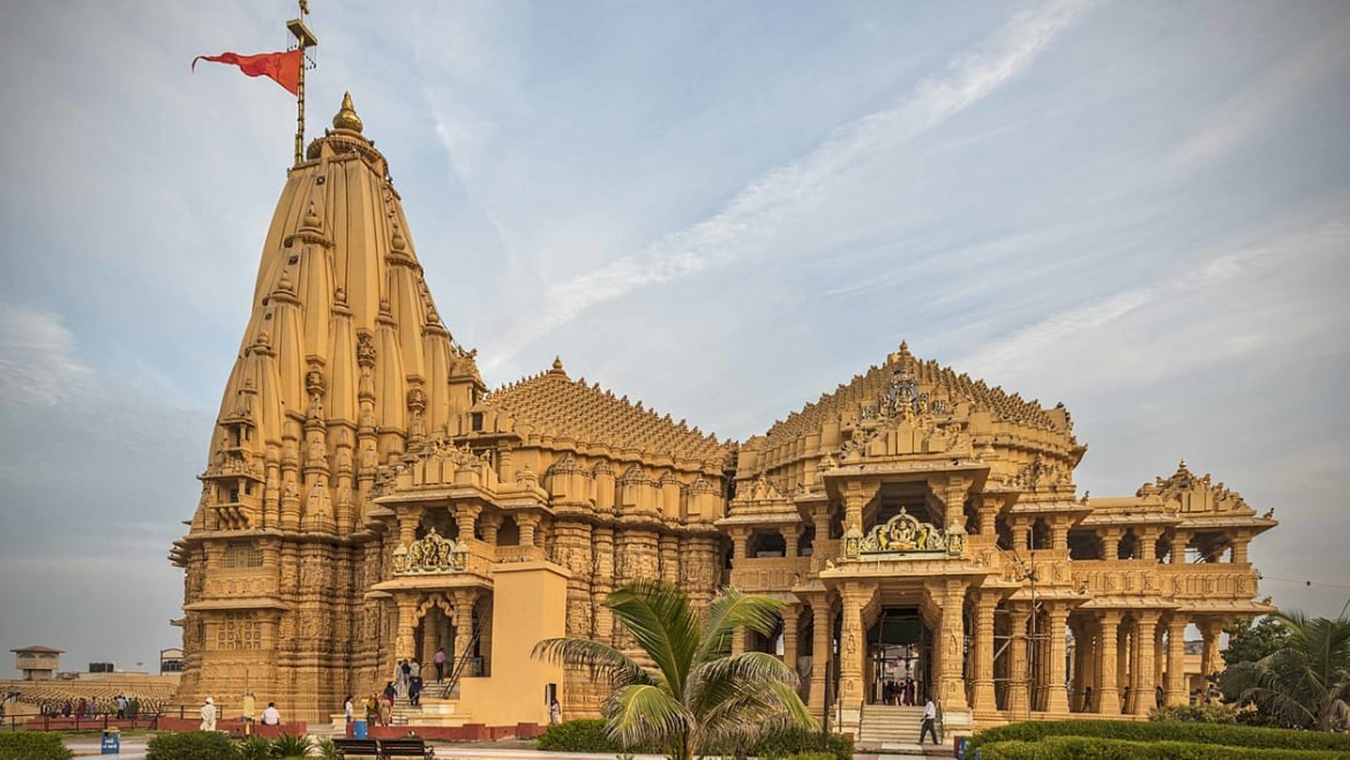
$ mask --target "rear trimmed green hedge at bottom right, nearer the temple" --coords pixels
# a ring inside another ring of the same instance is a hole
[[[1350,734],[1185,724],[1177,721],[1026,721],[986,729],[971,737],[968,747],[996,741],[1041,741],[1052,736],[1119,738],[1126,741],[1180,741],[1245,747],[1251,749],[1334,749],[1350,752]]]

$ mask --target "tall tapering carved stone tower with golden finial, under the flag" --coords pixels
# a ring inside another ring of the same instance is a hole
[[[319,715],[373,675],[358,634],[377,478],[473,406],[385,157],[351,97],[290,169],[216,420],[186,571],[178,701]],[[364,686],[364,684],[363,684]],[[340,703],[340,702],[338,702]]]

